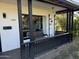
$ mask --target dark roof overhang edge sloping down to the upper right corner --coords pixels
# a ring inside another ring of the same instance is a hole
[[[38,0],[38,1],[57,5],[60,7],[71,9],[71,10],[78,10],[79,9],[79,5],[76,4],[75,2],[70,1],[70,0]]]

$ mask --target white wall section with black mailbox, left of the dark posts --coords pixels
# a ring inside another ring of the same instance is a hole
[[[6,13],[6,19],[3,18],[3,13]],[[3,26],[12,26],[12,29],[3,30]],[[3,52],[20,47],[16,5],[0,2],[0,34]]]

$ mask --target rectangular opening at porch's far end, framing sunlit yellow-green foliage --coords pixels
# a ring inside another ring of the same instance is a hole
[[[67,26],[66,22],[67,22],[66,13],[56,15],[56,20],[55,20],[56,34],[61,34],[66,32],[66,26]]]

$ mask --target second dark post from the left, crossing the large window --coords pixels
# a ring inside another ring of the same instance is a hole
[[[30,28],[30,41],[34,41],[33,37],[33,20],[32,20],[32,0],[28,0],[28,15],[29,15],[29,28]],[[34,59],[32,55],[33,51],[31,48],[31,43],[29,44],[29,59]]]

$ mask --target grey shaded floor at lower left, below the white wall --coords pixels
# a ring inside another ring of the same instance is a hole
[[[0,59],[21,59],[20,49],[0,53]]]

